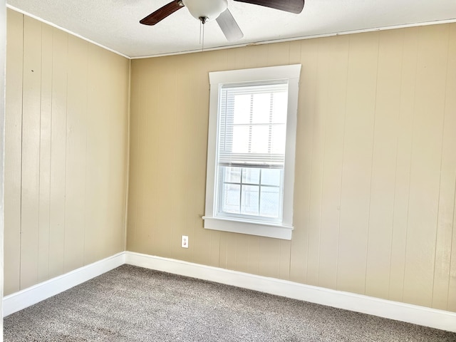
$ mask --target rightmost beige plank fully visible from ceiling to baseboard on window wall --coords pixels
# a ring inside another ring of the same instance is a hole
[[[423,306],[432,305],[448,39],[448,26],[420,28],[403,299]]]

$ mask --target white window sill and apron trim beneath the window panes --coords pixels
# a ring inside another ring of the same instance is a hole
[[[233,232],[240,234],[257,235],[259,237],[273,237],[275,239],[291,240],[293,227],[271,222],[247,221],[232,217],[202,217],[204,228]]]

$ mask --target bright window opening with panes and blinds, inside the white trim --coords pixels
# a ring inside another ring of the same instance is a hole
[[[220,90],[219,214],[280,220],[288,81]]]

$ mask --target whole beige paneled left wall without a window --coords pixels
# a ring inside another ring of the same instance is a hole
[[[8,11],[5,294],[122,252],[129,61]]]

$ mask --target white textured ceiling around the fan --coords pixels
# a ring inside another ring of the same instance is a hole
[[[244,32],[229,43],[215,21],[204,48],[304,38],[390,26],[456,21],[456,0],[306,0],[301,14],[228,0]],[[181,9],[155,26],[139,20],[170,0],[7,0],[7,4],[129,57],[201,51],[200,24]]]

